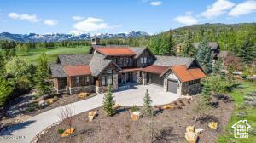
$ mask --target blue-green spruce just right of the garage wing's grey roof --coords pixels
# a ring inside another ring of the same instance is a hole
[[[212,49],[209,47],[207,40],[203,40],[202,43],[199,44],[196,60],[199,62],[204,72],[207,74],[212,72]]]

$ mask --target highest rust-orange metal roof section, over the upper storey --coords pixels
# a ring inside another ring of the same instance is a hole
[[[129,48],[122,48],[122,47],[104,47],[104,48],[96,48],[96,51],[104,54],[104,55],[136,55],[131,49]]]

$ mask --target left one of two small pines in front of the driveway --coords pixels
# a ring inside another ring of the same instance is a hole
[[[107,93],[104,94],[104,98],[103,98],[103,109],[106,112],[107,116],[113,116],[114,114],[113,105],[114,105],[113,93],[112,93],[112,89],[108,85]]]

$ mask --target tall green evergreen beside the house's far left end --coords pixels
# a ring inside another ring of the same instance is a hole
[[[39,57],[39,65],[37,67],[35,81],[38,89],[38,95],[50,93],[49,68],[45,52],[42,52]]]

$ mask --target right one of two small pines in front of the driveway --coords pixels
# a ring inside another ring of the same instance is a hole
[[[152,104],[152,100],[150,99],[148,89],[147,89],[145,96],[143,98],[143,115],[152,116],[154,114],[151,104]]]

